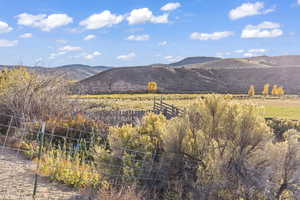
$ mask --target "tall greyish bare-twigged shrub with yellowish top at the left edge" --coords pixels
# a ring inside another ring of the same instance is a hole
[[[19,121],[65,116],[73,109],[67,94],[68,83],[62,77],[40,76],[26,68],[0,72],[1,114],[12,115]]]

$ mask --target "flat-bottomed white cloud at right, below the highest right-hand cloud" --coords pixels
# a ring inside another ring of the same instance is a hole
[[[242,38],[274,38],[283,35],[280,24],[265,21],[257,26],[248,25],[242,31]]]

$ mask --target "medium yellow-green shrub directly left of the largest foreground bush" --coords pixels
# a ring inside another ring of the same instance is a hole
[[[95,148],[98,171],[113,183],[145,187],[156,176],[162,154],[161,135],[165,130],[163,115],[147,114],[140,126],[124,125],[110,129],[109,149]]]

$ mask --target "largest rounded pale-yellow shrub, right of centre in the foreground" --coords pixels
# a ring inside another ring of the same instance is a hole
[[[245,198],[257,183],[251,168],[264,167],[251,158],[270,136],[253,105],[210,96],[168,124],[164,172],[168,181],[182,184],[182,199]]]

